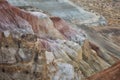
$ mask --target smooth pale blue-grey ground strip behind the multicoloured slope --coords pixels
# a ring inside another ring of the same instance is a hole
[[[52,16],[58,16],[71,23],[89,26],[105,25],[106,19],[74,5],[69,0],[7,0],[15,6],[33,6]],[[46,5],[46,6],[45,6]]]

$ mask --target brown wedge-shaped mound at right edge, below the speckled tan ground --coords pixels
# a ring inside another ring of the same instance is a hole
[[[102,34],[104,37],[108,38],[111,42],[115,43],[117,46],[120,46],[120,28],[119,27],[101,27],[94,28],[97,32]]]

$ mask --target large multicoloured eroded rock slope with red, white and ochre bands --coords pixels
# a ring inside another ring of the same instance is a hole
[[[0,1],[0,80],[85,80],[116,61],[63,19]]]

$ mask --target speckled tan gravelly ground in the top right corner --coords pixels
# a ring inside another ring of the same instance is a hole
[[[71,0],[85,9],[99,13],[112,27],[120,26],[120,0]]]

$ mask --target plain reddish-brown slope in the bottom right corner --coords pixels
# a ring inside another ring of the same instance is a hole
[[[97,73],[87,80],[120,80],[120,62],[117,62],[112,67]]]

